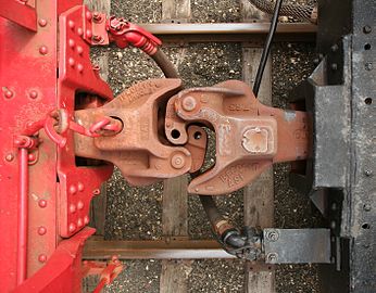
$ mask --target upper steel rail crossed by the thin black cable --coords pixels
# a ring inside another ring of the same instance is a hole
[[[265,38],[271,23],[202,23],[140,24],[164,41],[248,41],[249,37]],[[317,26],[310,23],[278,24],[276,40],[314,40]]]

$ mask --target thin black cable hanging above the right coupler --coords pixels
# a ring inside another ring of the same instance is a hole
[[[266,61],[267,61],[267,58],[268,58],[270,52],[271,52],[271,46],[273,42],[275,30],[277,28],[278,15],[279,15],[279,11],[281,8],[281,3],[283,3],[283,0],[277,0],[275,8],[274,8],[274,14],[273,14],[272,23],[271,23],[271,28],[268,30],[265,47],[264,47],[264,50],[263,50],[262,55],[261,55],[261,61],[259,64],[258,74],[255,76],[254,84],[253,84],[253,93],[255,97],[258,97],[258,94],[259,94],[262,76],[264,74]]]

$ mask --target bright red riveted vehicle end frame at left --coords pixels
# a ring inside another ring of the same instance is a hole
[[[89,58],[92,14],[79,0],[0,8],[0,288],[78,292],[90,200],[113,166],[76,166],[73,131],[51,140],[47,114],[71,119],[80,93],[113,98]]]

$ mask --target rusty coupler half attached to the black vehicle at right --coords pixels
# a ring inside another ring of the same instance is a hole
[[[308,156],[306,114],[261,104],[245,82],[228,80],[181,91],[175,111],[183,120],[204,124],[216,135],[215,165],[190,182],[190,193],[229,193],[273,163]],[[185,125],[179,123],[183,133]]]

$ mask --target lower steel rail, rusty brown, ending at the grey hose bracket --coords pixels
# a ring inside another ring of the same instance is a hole
[[[129,240],[109,241],[89,239],[84,247],[83,259],[203,259],[234,258],[214,240]]]

